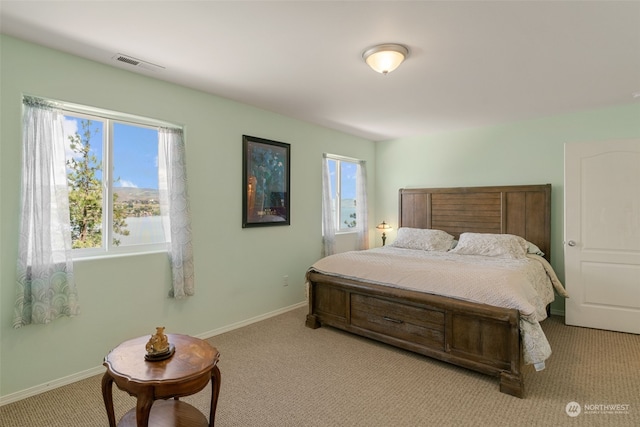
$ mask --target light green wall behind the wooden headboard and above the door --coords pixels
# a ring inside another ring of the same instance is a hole
[[[377,220],[397,227],[400,188],[551,184],[551,262],[564,280],[564,144],[629,138],[640,138],[640,103],[379,142]]]

